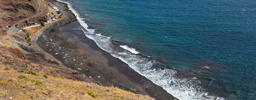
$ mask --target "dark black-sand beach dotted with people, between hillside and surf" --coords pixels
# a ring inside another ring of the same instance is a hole
[[[66,66],[85,73],[99,84],[119,87],[159,100],[175,99],[162,87],[101,50],[79,29],[82,29],[82,26],[77,21],[64,27],[56,27],[50,30],[50,33],[42,34],[36,43]]]

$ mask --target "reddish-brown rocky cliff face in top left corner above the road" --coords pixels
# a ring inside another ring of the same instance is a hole
[[[14,21],[39,12],[36,0],[0,0],[0,26],[3,28]]]

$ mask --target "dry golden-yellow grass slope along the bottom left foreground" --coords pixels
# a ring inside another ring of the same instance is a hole
[[[37,86],[31,81],[18,79],[20,75],[30,80],[42,81]],[[98,84],[72,81],[56,77],[45,78],[19,73],[16,70],[0,70],[1,99],[86,99],[86,100],[150,100],[148,96],[137,95],[116,87],[102,87]]]

